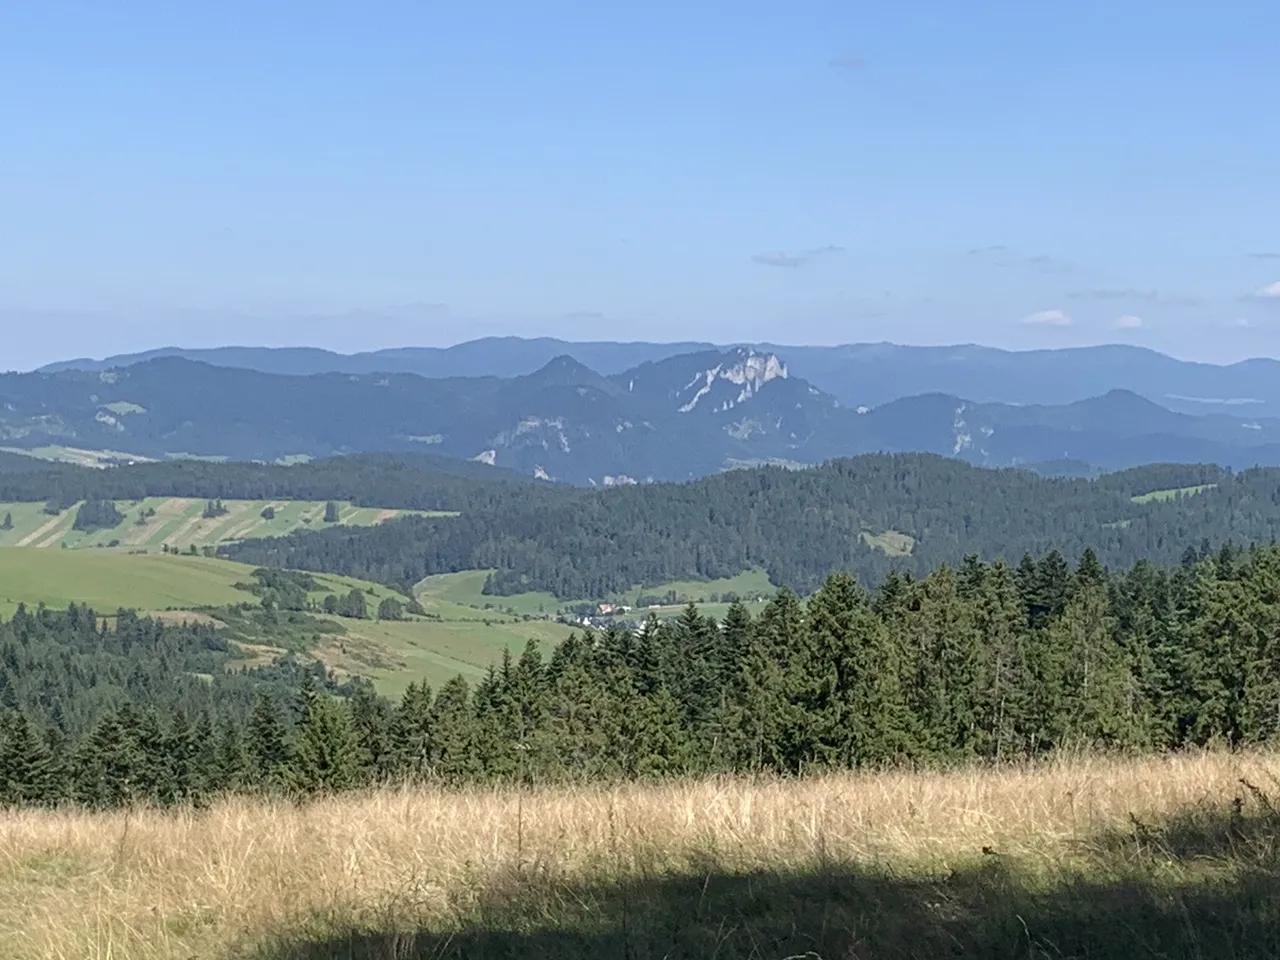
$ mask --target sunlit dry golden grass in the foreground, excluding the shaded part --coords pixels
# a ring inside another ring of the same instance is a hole
[[[1203,806],[1270,754],[800,782],[384,790],[305,806],[0,813],[0,957],[187,960],[291,931],[458,928],[512,874],[604,878],[812,869],[833,860],[938,876],[992,851],[1046,883],[1092,838]],[[310,934],[308,934],[310,936]]]

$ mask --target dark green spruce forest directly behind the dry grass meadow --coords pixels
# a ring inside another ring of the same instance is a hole
[[[196,650],[209,652],[207,686],[182,678]],[[394,707],[362,684],[332,696],[311,671],[250,705],[242,680],[216,673],[218,653],[200,627],[20,613],[0,628],[0,803],[1257,744],[1280,736],[1280,548],[1115,573],[1092,550],[1074,567],[1057,552],[1016,567],[969,557],[874,591],[833,573],[808,602],[781,590],[754,620],[690,607],[549,657],[530,644],[474,689],[413,685]]]

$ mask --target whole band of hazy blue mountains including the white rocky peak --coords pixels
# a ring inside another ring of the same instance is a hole
[[[543,349],[557,342],[516,343]],[[480,355],[493,364],[500,355],[506,357],[500,362],[513,365],[516,343],[452,348],[458,351],[456,366],[468,371],[467,364],[479,362]],[[60,445],[148,458],[264,461],[424,451],[525,476],[598,485],[685,480],[764,462],[812,465],[877,451],[941,453],[983,466],[1064,474],[1147,462],[1280,465],[1280,419],[1263,415],[1271,401],[1247,397],[1258,402],[1236,404],[1225,402],[1231,397],[1202,397],[1198,412],[1187,412],[1171,408],[1172,401],[1157,403],[1149,393],[1115,385],[1164,370],[1170,389],[1192,390],[1193,384],[1176,384],[1208,376],[1206,371],[1229,376],[1225,371],[1238,369],[1235,392],[1249,393],[1253,387],[1242,371],[1274,365],[1275,379],[1256,385],[1258,393],[1266,387],[1267,396],[1276,394],[1280,408],[1280,364],[1274,361],[1212,367],[1124,347],[1038,353],[801,348],[810,367],[823,356],[831,371],[844,365],[844,374],[828,376],[828,383],[841,381],[836,392],[796,375],[790,357],[755,347],[664,356],[672,347],[576,346],[605,358],[603,370],[568,353],[520,375],[442,378],[385,370],[265,372],[154,356],[132,365],[118,358],[108,369],[73,364],[8,374],[0,376],[0,448]],[[628,355],[643,360],[614,370]],[[243,348],[216,353],[223,364],[256,357],[253,362],[262,365],[298,366],[337,356]],[[389,362],[388,356],[439,362],[439,353],[430,351],[362,355],[358,362],[376,366]],[[1135,365],[1120,364],[1123,356],[1132,356]],[[466,357],[471,360],[463,362]],[[1006,367],[1012,370],[1007,376],[1001,372]],[[987,399],[1037,392],[1071,396],[1078,388],[1061,381],[1065,370],[1085,383],[1107,385],[1097,396],[1065,402]],[[974,392],[945,389],[954,383],[966,383]],[[913,393],[915,387],[924,389]],[[849,403],[846,397],[868,402]],[[1203,402],[1208,399],[1224,402]],[[1185,407],[1192,401],[1178,403]]]

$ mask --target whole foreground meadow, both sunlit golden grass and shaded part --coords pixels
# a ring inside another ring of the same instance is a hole
[[[1280,758],[0,814],[0,957],[1265,957]]]

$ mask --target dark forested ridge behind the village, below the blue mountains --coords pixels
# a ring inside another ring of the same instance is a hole
[[[1155,490],[1196,495],[1137,503]],[[910,554],[878,536],[905,534]],[[924,575],[966,554],[1018,562],[1093,548],[1102,562],[1178,562],[1204,541],[1280,535],[1280,470],[1231,474],[1157,465],[1098,480],[983,470],[931,454],[869,454],[810,470],[763,467],[686,484],[513,492],[448,520],[410,517],[372,529],[248,540],[225,556],[407,585],[460,570],[495,571],[486,591],[547,590],[562,599],[616,595],[673,580],[763,568],[800,594],[832,570],[863,584],[890,571]]]

